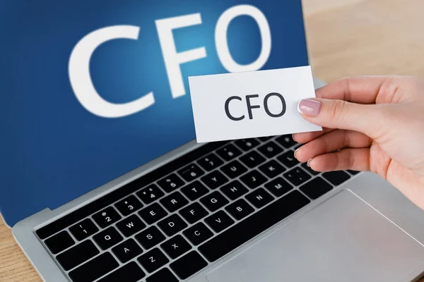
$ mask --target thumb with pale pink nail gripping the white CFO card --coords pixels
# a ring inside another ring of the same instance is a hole
[[[311,123],[326,128],[355,130],[376,138],[387,124],[384,104],[356,104],[333,99],[303,99],[298,111]]]

